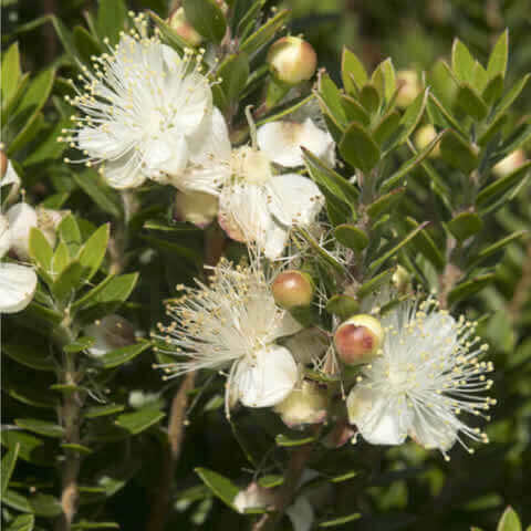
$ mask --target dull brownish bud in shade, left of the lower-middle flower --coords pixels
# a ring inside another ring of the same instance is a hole
[[[85,334],[94,337],[88,354],[100,357],[107,352],[135,343],[135,329],[119,315],[107,315],[85,329]]]

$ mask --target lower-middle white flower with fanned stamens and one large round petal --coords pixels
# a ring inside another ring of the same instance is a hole
[[[228,369],[227,414],[236,400],[248,407],[281,402],[299,374],[290,351],[274,341],[301,325],[275,305],[263,271],[221,260],[209,285],[197,283],[197,289],[180,287],[186,295],[168,305],[174,322],[159,325],[167,345],[160,350],[181,357],[166,371]]]

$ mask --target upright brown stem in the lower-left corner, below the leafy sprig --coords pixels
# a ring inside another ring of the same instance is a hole
[[[64,383],[76,385],[76,373],[74,362],[70,354],[66,354],[66,369]],[[61,419],[64,427],[63,442],[70,445],[80,444],[80,409],[82,398],[77,392],[65,393],[61,407]],[[55,529],[58,531],[70,531],[75,513],[77,512],[79,487],[77,476],[81,469],[81,456],[74,449],[66,449],[61,477],[61,507],[63,513],[59,518]]]

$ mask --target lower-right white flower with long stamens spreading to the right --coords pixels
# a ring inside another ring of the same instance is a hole
[[[480,362],[487,350],[473,336],[475,325],[455,321],[429,299],[406,303],[384,315],[383,353],[362,371],[351,391],[347,409],[365,440],[399,445],[409,435],[427,449],[447,451],[458,440],[470,452],[461,434],[487,441],[458,415],[482,415],[496,403],[477,396],[492,385],[485,373],[492,364]]]

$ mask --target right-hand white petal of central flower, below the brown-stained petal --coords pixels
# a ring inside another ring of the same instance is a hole
[[[285,226],[310,225],[324,205],[324,196],[313,180],[298,174],[279,175],[268,184],[269,208]]]

